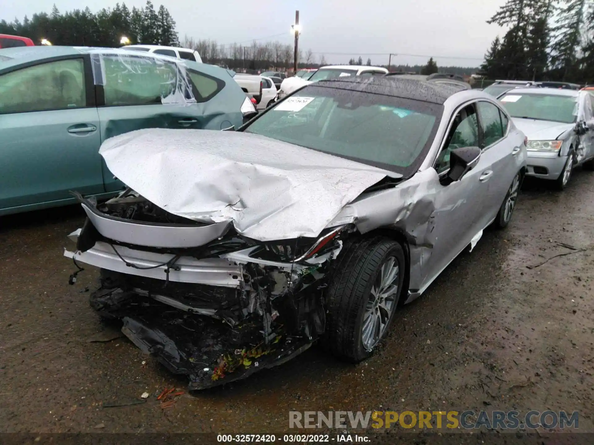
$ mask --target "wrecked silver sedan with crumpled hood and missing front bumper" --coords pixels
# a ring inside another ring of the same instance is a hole
[[[91,306],[191,389],[315,341],[364,360],[398,306],[508,224],[526,169],[495,98],[390,78],[320,81],[238,131],[141,130],[100,154],[129,189],[78,195],[88,218],[64,255],[100,268]]]

